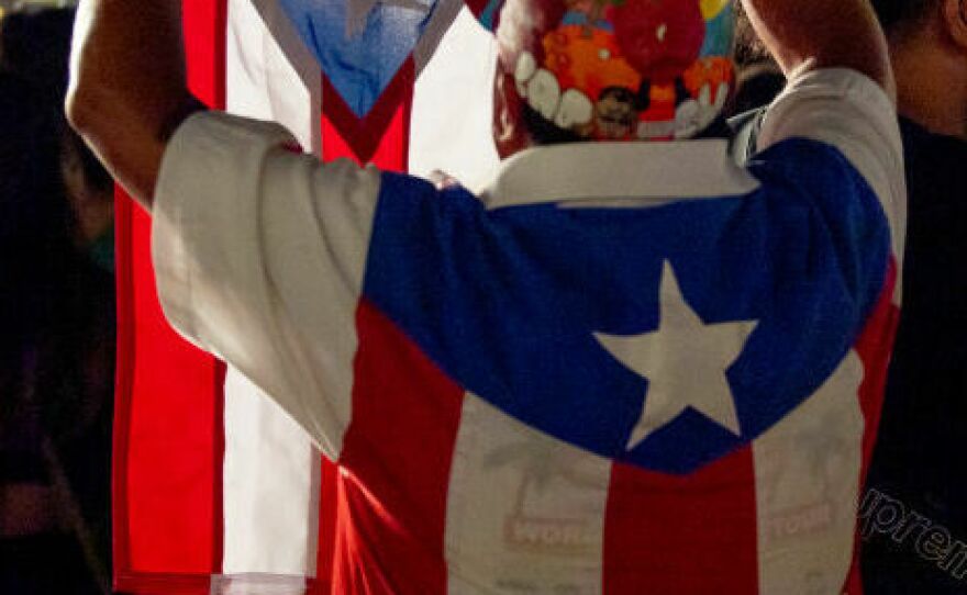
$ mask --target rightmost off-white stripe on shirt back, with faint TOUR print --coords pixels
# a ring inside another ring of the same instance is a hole
[[[857,395],[863,363],[849,351],[791,415],[753,444],[759,593],[840,593],[853,561],[863,456]]]

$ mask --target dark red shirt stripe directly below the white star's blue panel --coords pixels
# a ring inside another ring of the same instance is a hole
[[[756,527],[751,447],[683,476],[614,463],[603,593],[758,593]]]

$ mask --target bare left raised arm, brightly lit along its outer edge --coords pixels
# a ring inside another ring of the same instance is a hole
[[[81,0],[67,116],[147,209],[167,136],[190,102],[180,0]]]

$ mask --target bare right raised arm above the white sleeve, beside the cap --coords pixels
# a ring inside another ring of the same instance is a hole
[[[800,68],[852,68],[896,101],[887,41],[869,0],[742,0],[749,22],[789,75]]]

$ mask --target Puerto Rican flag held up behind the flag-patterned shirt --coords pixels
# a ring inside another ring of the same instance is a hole
[[[186,0],[184,10],[189,85],[212,108],[280,122],[324,160],[441,168],[468,186],[497,162],[496,50],[458,0]],[[330,593],[335,468],[241,374],[174,333],[147,215],[119,190],[115,217],[115,588]]]

